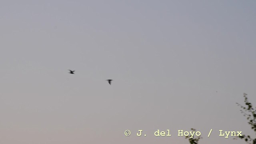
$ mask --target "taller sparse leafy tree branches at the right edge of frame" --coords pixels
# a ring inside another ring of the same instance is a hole
[[[253,108],[252,104],[248,102],[247,94],[244,93],[244,103],[246,106],[242,106],[241,104],[236,103],[240,108],[242,108],[241,113],[247,117],[248,124],[251,126],[252,130],[254,130],[256,134],[256,107]],[[251,136],[238,136],[238,138],[244,139],[248,144],[256,144],[256,138],[251,138]]]

